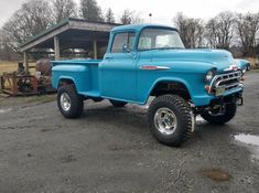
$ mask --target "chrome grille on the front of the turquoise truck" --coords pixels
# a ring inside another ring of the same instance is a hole
[[[224,87],[225,92],[242,86],[240,78],[242,76],[241,71],[218,74],[214,76],[211,84],[211,94],[215,94],[218,87]]]

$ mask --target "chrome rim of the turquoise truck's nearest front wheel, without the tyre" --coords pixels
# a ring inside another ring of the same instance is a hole
[[[154,125],[163,135],[172,135],[177,127],[177,118],[169,108],[159,108],[154,114]]]

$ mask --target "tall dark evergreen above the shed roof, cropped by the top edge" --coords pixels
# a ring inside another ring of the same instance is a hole
[[[101,9],[96,0],[80,0],[82,17],[88,21],[104,21]]]

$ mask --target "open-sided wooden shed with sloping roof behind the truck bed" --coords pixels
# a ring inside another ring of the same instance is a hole
[[[23,61],[28,71],[28,53],[35,49],[53,49],[55,60],[60,60],[61,51],[67,49],[91,50],[97,58],[98,47],[108,44],[109,32],[119,24],[106,22],[89,22],[80,19],[65,19],[46,29],[40,34],[20,44]]]

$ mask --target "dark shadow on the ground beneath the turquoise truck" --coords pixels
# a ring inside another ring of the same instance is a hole
[[[148,108],[137,105],[127,105],[122,108],[112,107],[107,104],[86,105],[84,114],[79,119],[85,125],[97,127],[97,129],[105,129],[109,132],[121,132],[122,135],[133,135],[143,140],[155,140],[149,131],[149,124],[147,118]],[[183,147],[194,146],[197,141],[209,143],[215,138],[222,138],[229,141],[229,135],[235,132],[231,124],[223,126],[211,125],[205,120],[196,120],[195,131],[190,141]],[[151,141],[150,141],[151,142]]]

